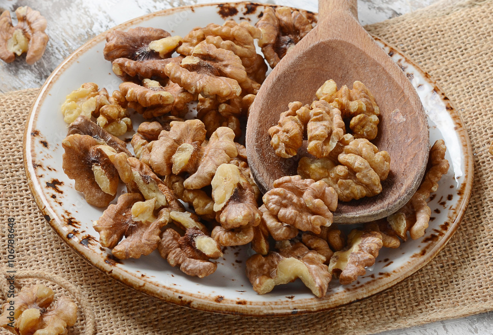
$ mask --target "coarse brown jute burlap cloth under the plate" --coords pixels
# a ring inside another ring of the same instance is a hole
[[[367,27],[420,64],[456,103],[476,168],[471,202],[457,233],[427,266],[385,292],[327,312],[253,318],[178,307],[108,278],[52,231],[28,188],[22,136],[36,90],[0,96],[0,250],[6,248],[7,218],[14,217],[16,268],[56,273],[78,287],[94,307],[98,334],[374,334],[492,310],[492,22],[489,0],[442,3]],[[82,323],[71,334],[81,334]]]

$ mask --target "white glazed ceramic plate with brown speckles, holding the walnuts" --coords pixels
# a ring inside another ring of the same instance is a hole
[[[263,9],[263,5],[246,2],[186,6],[145,15],[115,29],[154,27],[183,36],[194,27],[222,24],[225,19],[254,24]],[[430,142],[442,138],[447,146],[450,169],[429,200],[432,220],[423,238],[408,240],[397,249],[382,249],[366,275],[346,286],[333,280],[322,299],[314,297],[300,280],[276,287],[266,295],[256,294],[245,275],[245,261],[252,254],[246,246],[225,248],[216,272],[204,279],[170,267],[156,251],[138,260],[116,260],[110,250],[101,247],[99,234],[92,227],[103,209],[87,204],[62,169],[61,142],[67,125],[60,106],[65,97],[85,82],[95,82],[110,93],[120,83],[103,58],[105,35],[96,36],[70,55],[39,91],[26,126],[24,164],[35,201],[51,227],[81,257],[114,279],[167,302],[205,311],[253,316],[309,313],[354,302],[395,285],[428,263],[457,230],[469,202],[473,177],[467,132],[433,80],[399,51],[379,41],[422,99]]]

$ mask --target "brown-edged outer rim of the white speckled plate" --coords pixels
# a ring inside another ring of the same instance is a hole
[[[277,6],[273,4],[268,4],[268,3],[258,3],[258,2],[250,2],[250,1],[241,1],[241,2],[215,2],[215,3],[204,3],[204,4],[195,4],[195,5],[186,5],[186,6],[179,6],[179,7],[173,7],[169,9],[164,9],[160,11],[156,11],[153,13],[148,13],[142,16],[139,16],[137,18],[131,19],[129,21],[126,21],[122,24],[119,24],[103,33],[100,33],[90,40],[88,40],[86,43],[84,43],[82,46],[80,46],[78,49],[73,51],[62,63],[56,67],[53,72],[48,76],[44,84],[41,86],[39,92],[37,93],[34,103],[31,106],[31,109],[29,111],[29,114],[27,116],[27,123],[25,126],[24,130],[24,135],[23,135],[23,165],[24,169],[26,172],[26,177],[28,181],[29,188],[31,190],[31,194],[33,195],[36,205],[38,206],[39,210],[43,214],[43,217],[45,220],[48,222],[50,227],[55,231],[56,234],[60,236],[60,238],[64,241],[66,245],[70,247],[77,255],[79,255],[82,259],[84,259],[87,263],[89,263],[91,266],[94,268],[97,268],[98,270],[102,271],[104,274],[108,275],[109,277],[119,281],[120,283],[140,292],[143,294],[146,294],[148,296],[166,301],[166,302],[171,302],[176,305],[180,306],[185,306],[185,307],[190,307],[193,309],[197,310],[202,310],[206,312],[213,312],[213,313],[221,313],[221,314],[230,314],[230,315],[243,315],[243,316],[259,316],[259,317],[265,317],[265,316],[289,316],[289,315],[301,315],[301,314],[308,314],[308,313],[313,313],[313,312],[320,312],[320,311],[325,311],[337,307],[341,307],[347,304],[350,304],[355,301],[359,301],[362,299],[369,298],[371,296],[374,296],[378,293],[381,293],[390,287],[400,283],[401,281],[407,279],[409,276],[417,272],[419,269],[423,268],[425,265],[427,265],[448,243],[452,235],[457,231],[459,223],[462,221],[463,216],[465,214],[465,211],[468,207],[471,192],[472,192],[472,183],[473,183],[473,176],[474,176],[474,161],[472,157],[472,147],[469,139],[469,135],[467,134],[467,130],[465,128],[465,125],[462,121],[462,118],[460,114],[457,111],[457,108],[455,107],[454,103],[451,100],[448,100],[448,103],[451,106],[451,110],[448,110],[449,114],[453,117],[457,117],[457,120],[455,120],[455,123],[457,123],[460,127],[457,130],[458,134],[461,134],[460,138],[465,139],[465,143],[461,140],[461,149],[466,149],[464,150],[463,153],[463,158],[464,158],[464,192],[461,195],[461,199],[459,199],[458,203],[456,205],[457,207],[457,216],[454,219],[454,221],[450,224],[449,228],[447,229],[447,232],[441,237],[440,241],[433,246],[433,248],[427,250],[426,254],[423,255],[422,258],[420,258],[421,263],[416,264],[414,267],[408,268],[406,271],[401,272],[401,274],[393,279],[393,280],[387,280],[383,283],[383,285],[379,285],[378,289],[374,289],[375,292],[373,293],[368,293],[364,289],[360,289],[359,291],[352,291],[352,293],[349,295],[349,299],[342,300],[342,302],[339,303],[328,303],[330,301],[324,301],[319,300],[319,301],[314,301],[311,299],[311,302],[307,303],[307,299],[301,299],[299,301],[291,301],[289,305],[287,305],[285,302],[268,302],[268,301],[258,301],[258,302],[250,302],[247,304],[237,304],[235,300],[233,299],[224,299],[220,303],[215,302],[213,300],[213,297],[207,297],[206,295],[200,295],[196,292],[189,292],[189,291],[181,291],[181,290],[176,290],[173,289],[170,286],[164,287],[160,285],[153,285],[152,283],[149,283],[148,281],[142,280],[138,276],[132,275],[129,271],[118,268],[118,267],[112,267],[110,264],[106,264],[103,260],[90,260],[89,255],[85,255],[85,253],[88,253],[86,249],[80,249],[78,250],[74,245],[72,245],[69,240],[62,234],[62,232],[58,229],[58,226],[60,225],[60,218],[55,215],[55,212],[50,208],[49,203],[46,201],[43,192],[41,191],[41,186],[38,183],[38,180],[36,179],[36,173],[32,164],[32,153],[31,153],[31,143],[32,141],[30,140],[31,138],[31,130],[33,128],[33,123],[35,121],[35,116],[36,113],[35,111],[38,110],[39,106],[42,104],[45,93],[47,90],[55,83],[55,81],[58,79],[60,75],[63,74],[65,69],[69,67],[73,62],[77,60],[77,58],[80,56],[79,54],[83,54],[87,48],[90,48],[93,44],[99,43],[102,40],[106,38],[106,34],[110,31],[113,30],[121,30],[121,29],[128,29],[130,26],[136,25],[139,22],[147,21],[151,19],[152,17],[156,16],[167,16],[167,15],[173,15],[175,12],[180,12],[186,9],[191,9],[191,8],[197,8],[197,7],[214,7],[219,4],[232,4],[235,6],[239,5],[245,5],[245,4],[250,4],[253,3],[255,5],[259,6]],[[373,35],[372,35],[373,36]],[[417,71],[419,71],[424,78],[426,78],[426,81],[430,84],[433,84],[435,86],[435,90],[438,94],[441,94],[441,100],[445,96],[443,93],[442,88],[431,78],[431,76],[425,72],[421,67],[419,67],[414,61],[412,61],[409,57],[407,57],[402,51],[400,51],[398,48],[395,46],[383,41],[381,38],[378,38],[376,36],[373,36],[375,39],[382,41],[384,44],[386,44],[388,47],[391,49],[395,50],[397,53],[399,53],[403,58],[406,59],[407,62],[409,62]],[[462,134],[463,133],[463,134]],[[28,164],[29,163],[29,164]],[[54,222],[57,222],[58,225],[56,225]],[[84,250],[86,252],[81,252],[81,250]],[[358,294],[359,292],[359,294]],[[178,297],[181,297],[180,299]],[[186,298],[186,299],[184,299]],[[265,307],[274,307],[274,308],[269,308],[269,313],[265,313]]]

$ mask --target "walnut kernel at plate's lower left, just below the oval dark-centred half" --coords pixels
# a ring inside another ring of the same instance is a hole
[[[139,193],[122,194],[93,223],[101,245],[119,259],[149,255],[157,248],[161,228],[170,221],[169,210],[162,209],[156,217],[155,206],[156,198],[144,201]]]

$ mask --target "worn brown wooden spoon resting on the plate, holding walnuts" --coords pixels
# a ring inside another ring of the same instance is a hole
[[[319,0],[318,10],[317,26],[274,68],[255,98],[246,126],[248,163],[264,193],[274,180],[298,174],[298,160],[306,153],[276,156],[268,129],[289,102],[315,100],[326,80],[349,88],[359,80],[380,107],[379,133],[372,142],[389,153],[390,173],[379,195],[339,201],[334,222],[369,222],[401,208],[419,187],[429,153],[428,123],[409,79],[359,24],[357,0]]]

